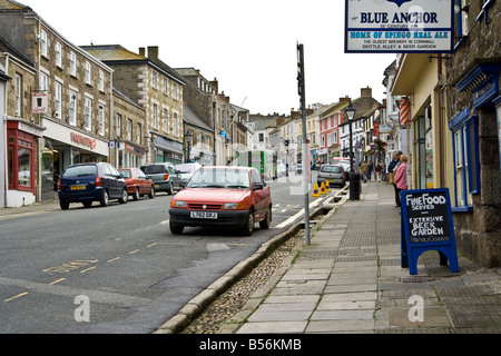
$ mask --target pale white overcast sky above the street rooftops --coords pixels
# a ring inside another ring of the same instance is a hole
[[[385,96],[395,55],[344,53],[343,0],[18,0],[77,46],[158,46],[173,68],[217,77],[219,91],[252,113],[299,107],[296,42],[304,44],[306,105]]]

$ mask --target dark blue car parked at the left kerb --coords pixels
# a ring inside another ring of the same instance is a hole
[[[126,204],[127,184],[118,170],[106,162],[68,166],[58,179],[59,205],[62,210],[70,202],[81,202],[86,208],[92,201],[108,206],[109,199]]]

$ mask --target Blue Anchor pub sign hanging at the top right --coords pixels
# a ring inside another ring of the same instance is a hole
[[[453,0],[345,0],[346,53],[450,53]]]

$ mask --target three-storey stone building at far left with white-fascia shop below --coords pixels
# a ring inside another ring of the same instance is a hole
[[[0,2],[0,33],[35,68],[35,82],[22,95],[36,115],[24,111],[22,119],[43,128],[39,147],[33,146],[33,156],[41,157],[33,161],[35,196],[51,200],[68,165],[109,159],[112,70],[17,1]]]

